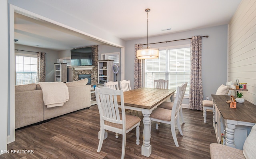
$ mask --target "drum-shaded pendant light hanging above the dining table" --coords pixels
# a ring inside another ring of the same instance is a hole
[[[145,10],[147,12],[150,12],[150,9]],[[138,59],[154,59],[154,58],[159,58],[159,50],[158,48],[151,48],[151,46],[148,46],[148,20],[147,20],[147,47],[142,48],[138,47],[136,56]]]

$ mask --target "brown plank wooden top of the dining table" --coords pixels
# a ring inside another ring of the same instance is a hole
[[[124,92],[124,105],[151,109],[167,97],[174,94],[176,89],[139,88]],[[120,96],[117,97],[120,104]]]

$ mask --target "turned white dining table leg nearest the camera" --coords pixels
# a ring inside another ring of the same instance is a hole
[[[150,114],[151,110],[150,109],[142,109],[142,114],[143,114],[143,124],[144,124],[144,129],[143,129],[143,142],[142,142],[142,147],[141,147],[141,154],[149,157],[152,151],[152,147],[150,145],[150,138],[151,138],[151,132],[150,132]]]

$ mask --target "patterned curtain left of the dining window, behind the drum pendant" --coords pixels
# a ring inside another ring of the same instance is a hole
[[[142,83],[142,59],[137,59],[136,52],[142,47],[142,44],[135,44],[135,58],[134,58],[134,89],[143,87]]]

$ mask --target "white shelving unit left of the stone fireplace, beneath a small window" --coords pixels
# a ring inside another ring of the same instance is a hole
[[[67,64],[65,63],[54,64],[54,81],[55,82],[68,81]]]

